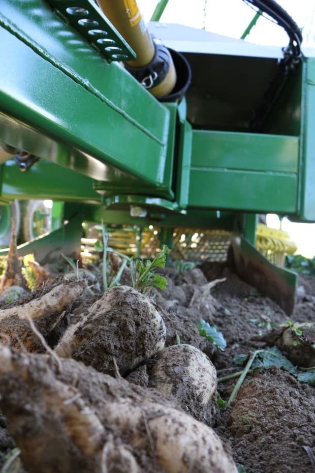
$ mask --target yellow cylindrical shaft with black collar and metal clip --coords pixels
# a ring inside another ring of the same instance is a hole
[[[98,0],[121,36],[137,54],[125,64],[128,71],[155,97],[170,94],[176,84],[176,71],[167,48],[155,43],[147,29],[136,0]]]

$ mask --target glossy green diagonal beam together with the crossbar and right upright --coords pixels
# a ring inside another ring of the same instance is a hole
[[[299,132],[298,126],[277,132],[277,105],[261,134],[195,130],[184,101],[157,102],[45,3],[3,0],[0,25],[6,44],[0,61],[7,65],[0,140],[41,157],[24,174],[12,162],[2,166],[4,202],[47,197],[129,211],[132,200],[149,207],[157,199],[160,213],[209,209],[315,219],[315,112],[306,106],[313,102],[314,60],[306,58],[291,79],[301,90],[291,98],[288,88],[286,104],[300,110]],[[291,112],[279,104],[285,123]]]

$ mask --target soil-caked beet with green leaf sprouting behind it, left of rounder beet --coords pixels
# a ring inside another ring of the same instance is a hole
[[[55,352],[104,373],[113,372],[115,360],[119,372],[126,374],[163,349],[165,334],[164,321],[148,297],[129,286],[116,286],[68,328]]]

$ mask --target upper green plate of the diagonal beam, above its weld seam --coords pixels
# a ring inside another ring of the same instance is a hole
[[[156,102],[121,65],[109,64],[105,61],[78,32],[71,26],[65,25],[53,14],[45,2],[2,0],[0,25],[7,28],[54,67],[80,83],[91,94],[108,103],[108,106],[117,109],[117,112],[125,116],[127,120],[134,120],[147,133],[163,140],[166,113],[164,107]],[[10,56],[9,52],[13,56]],[[34,75],[34,87],[45,86],[45,69],[42,71],[40,81],[37,76],[41,71],[31,67],[31,64],[24,64],[26,57],[24,61],[19,55],[15,57],[14,49],[9,51],[6,48],[2,53],[8,65],[15,58],[21,68],[19,75],[27,72],[28,81]],[[75,106],[80,106],[75,96],[72,100]]]

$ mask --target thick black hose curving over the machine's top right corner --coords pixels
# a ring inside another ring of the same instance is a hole
[[[243,0],[245,3],[254,5],[262,10],[264,13],[273,18],[279,26],[285,29],[290,42],[288,49],[285,50],[285,55],[293,56],[295,61],[299,60],[301,56],[301,43],[303,40],[301,29],[289,13],[283,9],[274,0]],[[291,57],[291,60],[293,59]]]

